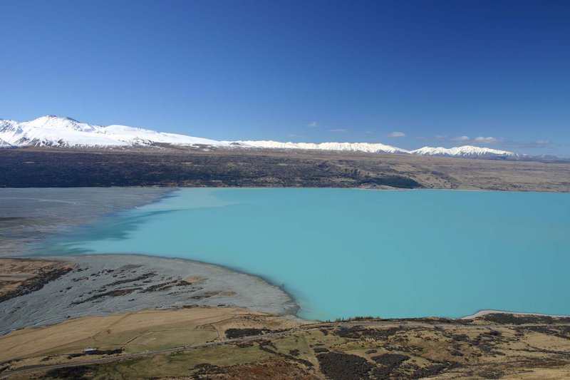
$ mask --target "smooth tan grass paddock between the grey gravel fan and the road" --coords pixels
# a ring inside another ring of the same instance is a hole
[[[125,354],[199,344],[224,336],[229,328],[262,324],[269,329],[296,326],[287,319],[229,307],[196,307],[173,311],[145,310],[108,317],[83,317],[60,324],[21,329],[0,337],[0,361],[20,364],[51,357],[66,360],[68,354],[95,347],[100,351],[121,349]],[[63,355],[63,356],[62,356]],[[44,360],[45,362],[45,360]]]

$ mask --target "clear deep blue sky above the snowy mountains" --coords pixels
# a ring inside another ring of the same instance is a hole
[[[570,156],[569,1],[3,0],[0,14],[0,118]]]

